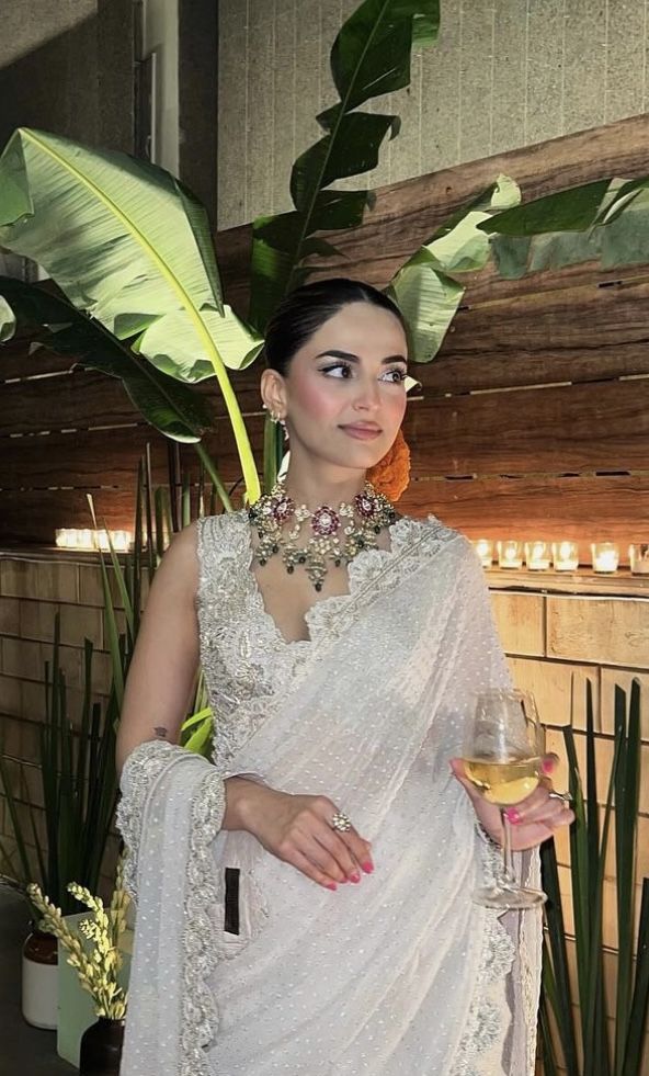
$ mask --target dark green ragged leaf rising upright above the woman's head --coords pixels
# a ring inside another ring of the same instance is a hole
[[[398,118],[354,110],[408,86],[413,44],[433,44],[439,25],[440,0],[365,0],[342,26],[331,50],[340,101],[318,116],[324,136],[293,166],[295,211],[254,222],[250,320],[260,331],[283,296],[305,279],[304,259],[334,250],[315,233],[361,224],[371,192],[327,188],[375,168],[384,138],[398,132]]]

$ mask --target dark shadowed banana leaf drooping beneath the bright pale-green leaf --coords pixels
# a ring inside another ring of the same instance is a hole
[[[99,321],[80,314],[59,296],[37,285],[0,276],[0,299],[10,310],[13,324],[18,321],[19,326],[29,328],[35,342],[56,354],[76,359],[89,370],[118,377],[146,421],[166,437],[197,442],[213,427],[212,410],[204,396],[156,370],[134,354],[126,342],[117,340]]]

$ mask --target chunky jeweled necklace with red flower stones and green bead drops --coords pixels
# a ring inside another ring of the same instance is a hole
[[[280,480],[249,508],[248,518],[259,535],[253,558],[260,565],[280,554],[289,575],[304,567],[316,590],[321,590],[329,563],[346,565],[363,550],[377,548],[377,535],[398,517],[387,497],[369,483],[351,505],[343,501],[335,509],[322,505],[311,512],[306,505],[297,506]],[[298,545],[301,524],[307,520],[311,535],[306,545]]]

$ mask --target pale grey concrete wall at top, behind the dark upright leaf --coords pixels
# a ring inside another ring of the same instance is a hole
[[[220,0],[219,228],[291,208],[291,166],[337,100],[329,52],[357,5]],[[402,129],[368,184],[644,112],[647,24],[647,0],[442,0],[437,46],[414,54],[408,90],[373,105]]]

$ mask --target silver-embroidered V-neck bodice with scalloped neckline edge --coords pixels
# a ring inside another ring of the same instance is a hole
[[[349,594],[321,599],[308,610],[310,637],[286,642],[264,608],[251,569],[247,512],[198,520],[201,664],[217,728],[213,761],[224,775],[229,775],[237,750],[307,670],[317,644],[330,634],[364,585],[376,579],[380,587],[384,567],[409,543],[419,554],[457,536],[433,517],[426,521],[403,517],[390,526],[389,534],[390,550],[366,550],[351,562]],[[423,542],[418,541],[422,537]],[[400,558],[398,578],[417,564],[417,556]]]

